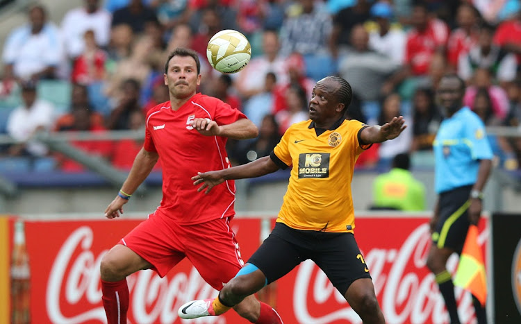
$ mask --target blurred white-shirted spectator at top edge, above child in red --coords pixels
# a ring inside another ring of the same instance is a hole
[[[65,38],[65,51],[76,58],[85,49],[85,31],[94,31],[96,43],[102,48],[110,40],[110,12],[99,7],[99,0],[83,0],[85,6],[69,10],[63,17],[61,31]]]

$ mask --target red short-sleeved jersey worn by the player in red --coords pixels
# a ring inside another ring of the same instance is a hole
[[[209,194],[197,192],[192,176],[197,172],[231,167],[226,137],[204,136],[190,126],[193,119],[209,118],[226,125],[246,118],[239,110],[214,97],[195,94],[179,110],[170,102],[149,110],[143,147],[157,152],[163,168],[163,199],[155,214],[181,224],[197,224],[233,216],[235,182],[215,186]]]

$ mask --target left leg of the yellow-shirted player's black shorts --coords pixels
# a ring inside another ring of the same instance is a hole
[[[248,263],[254,264],[264,273],[267,284],[283,277],[308,259],[306,250],[295,239],[295,232],[288,226],[276,223],[270,236],[248,259]]]

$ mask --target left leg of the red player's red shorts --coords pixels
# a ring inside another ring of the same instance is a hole
[[[145,259],[163,278],[185,257],[176,225],[163,216],[151,215],[142,221],[119,244]]]

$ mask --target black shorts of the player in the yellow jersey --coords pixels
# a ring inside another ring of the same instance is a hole
[[[269,284],[306,259],[324,271],[342,296],[354,280],[371,278],[353,233],[295,230],[283,223],[276,223],[248,263],[263,271]]]

